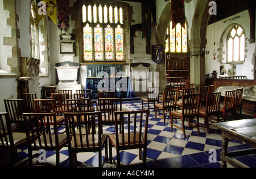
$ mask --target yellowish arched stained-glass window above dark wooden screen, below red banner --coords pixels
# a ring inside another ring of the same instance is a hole
[[[166,52],[187,53],[187,51],[187,24],[183,28],[179,23],[172,29],[170,22],[170,27],[167,28]]]

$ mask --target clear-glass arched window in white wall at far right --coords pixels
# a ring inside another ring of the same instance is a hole
[[[245,61],[245,31],[239,25],[233,26],[227,38],[227,62],[243,63]]]

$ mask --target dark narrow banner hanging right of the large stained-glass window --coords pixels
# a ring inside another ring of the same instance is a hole
[[[142,2],[142,39],[147,36],[151,39],[151,8],[150,3]]]

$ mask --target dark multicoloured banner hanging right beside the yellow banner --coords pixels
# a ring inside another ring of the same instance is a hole
[[[57,27],[60,34],[67,34],[69,28],[69,0],[57,0],[58,14],[57,14]]]

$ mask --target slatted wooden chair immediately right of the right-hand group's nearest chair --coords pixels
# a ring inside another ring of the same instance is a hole
[[[201,107],[199,109],[199,114],[204,116],[204,127],[207,128],[208,134],[210,134],[210,130],[209,130],[210,115],[216,116],[217,122],[220,122],[220,97],[221,97],[221,93],[208,93],[206,106]],[[212,121],[210,120],[210,122]]]

